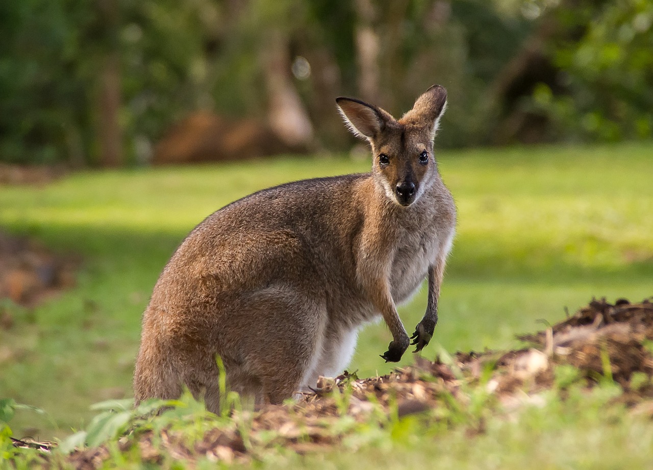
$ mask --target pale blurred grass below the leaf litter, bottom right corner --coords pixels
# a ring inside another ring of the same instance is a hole
[[[609,392],[608,392],[609,394]],[[277,458],[266,468],[396,470],[646,469],[653,467],[653,426],[622,407],[608,406],[604,391],[565,402],[524,405],[510,416],[486,420],[483,433],[468,428],[395,424],[356,452]]]

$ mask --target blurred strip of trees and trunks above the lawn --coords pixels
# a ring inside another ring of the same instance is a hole
[[[342,151],[334,98],[447,87],[441,148],[646,139],[649,0],[8,0],[0,161]]]

